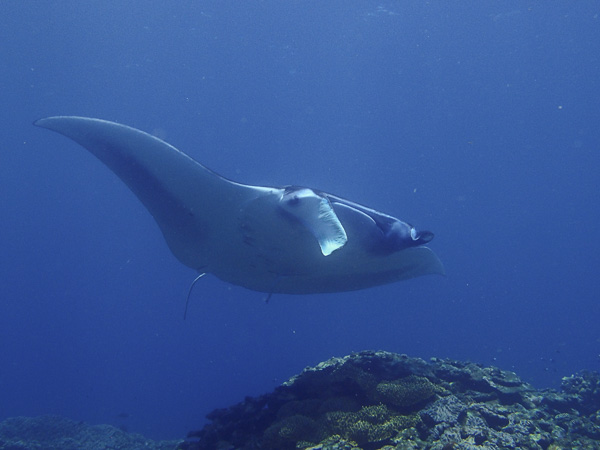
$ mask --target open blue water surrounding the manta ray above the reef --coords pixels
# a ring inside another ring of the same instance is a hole
[[[583,1],[2,1],[0,419],[182,437],[364,349],[494,364],[536,387],[600,369],[599,14]],[[195,273],[117,177],[31,125],[61,114],[430,229],[447,276],[268,304],[206,277],[184,322]]]

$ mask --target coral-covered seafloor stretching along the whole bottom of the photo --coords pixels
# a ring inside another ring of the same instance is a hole
[[[0,423],[0,449],[596,449],[600,374],[536,390],[513,372],[365,351],[306,368],[272,393],[154,442],[57,417]]]

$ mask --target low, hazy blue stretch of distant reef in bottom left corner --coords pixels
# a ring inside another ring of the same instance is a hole
[[[110,425],[87,425],[59,416],[11,417],[0,422],[0,450],[172,450],[177,441],[155,442]]]

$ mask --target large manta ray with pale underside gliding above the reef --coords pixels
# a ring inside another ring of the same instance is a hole
[[[175,257],[200,276],[270,296],[444,273],[425,246],[433,233],[336,195],[236,183],[148,133],[106,120],[57,116],[34,124],[108,166],[154,217]]]

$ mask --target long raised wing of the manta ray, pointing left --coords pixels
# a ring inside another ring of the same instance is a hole
[[[262,193],[226,180],[175,147],[134,128],[84,117],[50,117],[35,125],[61,133],[106,164],[141,200],[169,248],[185,265],[211,264],[214,239],[230,230],[235,204]]]

